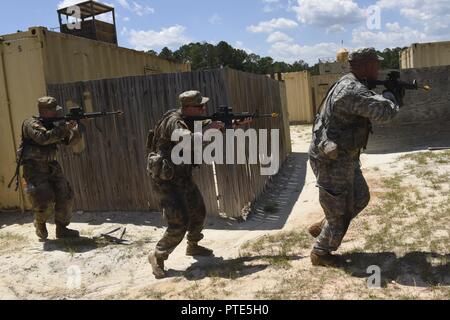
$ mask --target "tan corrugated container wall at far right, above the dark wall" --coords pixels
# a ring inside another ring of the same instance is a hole
[[[450,65],[450,41],[415,43],[400,54],[402,69]]]

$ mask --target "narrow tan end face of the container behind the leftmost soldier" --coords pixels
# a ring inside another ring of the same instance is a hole
[[[36,100],[46,92],[41,44],[30,33],[5,37],[0,45],[3,56],[0,71],[0,208],[23,208],[22,189],[7,185],[16,168],[15,150],[20,144],[25,118],[36,114]]]

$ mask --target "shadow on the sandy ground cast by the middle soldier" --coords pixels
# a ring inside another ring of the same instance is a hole
[[[195,258],[197,262],[192,264],[186,271],[168,270],[168,277],[184,277],[190,281],[202,280],[204,278],[237,279],[253,273],[261,272],[271,265],[274,256],[240,257],[235,259],[224,259],[222,257]],[[288,261],[300,260],[302,256],[283,257]]]

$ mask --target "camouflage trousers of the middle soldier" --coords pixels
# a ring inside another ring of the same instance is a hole
[[[206,208],[200,190],[190,179],[152,182],[167,222],[167,230],[156,245],[155,255],[167,260],[186,233],[190,243],[203,239]]]

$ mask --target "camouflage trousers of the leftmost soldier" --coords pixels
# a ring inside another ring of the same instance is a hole
[[[35,222],[45,223],[55,212],[55,223],[68,226],[74,194],[59,163],[28,161],[23,165],[23,176]]]

